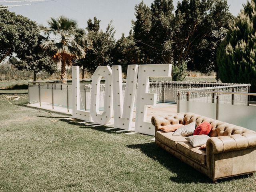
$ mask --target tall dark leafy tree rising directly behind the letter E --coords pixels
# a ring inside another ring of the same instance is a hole
[[[155,0],[149,8],[142,1],[132,21],[134,40],[143,64],[171,63],[174,11],[172,0]]]

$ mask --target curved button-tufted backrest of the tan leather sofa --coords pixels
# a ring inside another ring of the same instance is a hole
[[[166,117],[152,117],[152,124],[157,128],[161,126],[166,126],[168,124],[184,124],[187,125],[191,122],[196,122],[196,126],[202,122],[209,122],[212,125],[212,130],[209,134],[210,137],[216,136],[230,136],[233,134],[244,134],[244,133],[256,133],[252,130],[236,126],[233,124],[228,124],[226,122],[221,122],[214,120],[212,118],[204,117],[194,113],[178,113],[175,116],[166,116]]]

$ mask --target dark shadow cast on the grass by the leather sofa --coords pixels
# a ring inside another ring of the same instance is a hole
[[[180,161],[178,158],[172,156],[167,151],[158,147],[155,142],[128,145],[128,148],[140,149],[146,156],[158,161],[162,166],[166,167],[171,172],[176,173],[176,177],[170,177],[172,182],[179,184],[185,183],[208,183],[211,184],[212,180],[204,174],[198,172],[188,164]],[[218,182],[230,181],[232,179],[247,178],[248,175],[224,178],[218,180]]]

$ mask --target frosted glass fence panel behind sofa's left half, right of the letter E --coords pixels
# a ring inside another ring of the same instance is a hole
[[[180,100],[180,112],[191,112],[216,119],[216,104]]]

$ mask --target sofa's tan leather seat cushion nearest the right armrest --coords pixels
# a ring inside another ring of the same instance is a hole
[[[177,150],[179,152],[200,164],[206,164],[206,151],[199,148],[200,147],[193,147],[188,141],[177,143]]]

